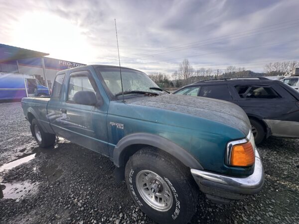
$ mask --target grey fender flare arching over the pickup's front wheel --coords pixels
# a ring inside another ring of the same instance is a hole
[[[125,165],[126,153],[128,153],[127,149],[129,146],[135,144],[150,145],[159,148],[160,150],[167,152],[168,154],[181,161],[185,166],[203,170],[200,163],[185,149],[166,138],[149,133],[129,134],[123,137],[117,143],[113,151],[113,161],[117,167],[122,167]]]

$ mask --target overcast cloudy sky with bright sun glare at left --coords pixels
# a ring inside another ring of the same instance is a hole
[[[299,60],[298,0],[0,0],[0,43],[171,74]]]

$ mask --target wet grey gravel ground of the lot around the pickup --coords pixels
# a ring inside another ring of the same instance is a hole
[[[62,138],[53,148],[39,148],[20,103],[0,104],[0,136],[0,181],[6,186],[0,223],[153,223],[131,200],[125,183],[115,183],[107,157]],[[191,223],[299,223],[299,140],[271,138],[259,152],[263,190],[225,206],[200,194]],[[28,159],[1,170],[4,163]]]

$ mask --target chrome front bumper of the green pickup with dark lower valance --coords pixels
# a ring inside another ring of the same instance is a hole
[[[257,150],[255,150],[254,172],[248,177],[231,177],[196,169],[191,169],[191,174],[207,198],[219,204],[256,194],[264,185],[264,169]]]

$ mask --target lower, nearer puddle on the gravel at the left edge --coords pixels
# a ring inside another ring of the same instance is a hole
[[[3,190],[4,198],[19,199],[26,195],[32,195],[37,191],[38,183],[29,183],[27,181],[15,183],[1,183],[5,186]]]

